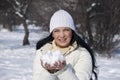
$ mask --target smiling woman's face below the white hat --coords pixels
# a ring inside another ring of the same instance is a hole
[[[57,27],[53,30],[52,36],[57,46],[64,48],[69,46],[72,38],[72,30],[68,27]]]

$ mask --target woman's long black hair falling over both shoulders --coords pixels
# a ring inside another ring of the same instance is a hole
[[[42,39],[42,40],[39,40],[39,41],[37,42],[37,44],[36,44],[36,50],[37,50],[37,49],[40,49],[40,48],[41,48],[43,45],[45,45],[46,43],[49,43],[49,42],[53,41],[53,39],[54,39],[54,38],[52,37],[52,33],[51,33],[48,37],[46,37],[46,38],[44,38],[44,39]],[[96,63],[96,60],[95,60],[94,53],[93,53],[92,49],[85,43],[84,40],[81,39],[80,36],[78,36],[78,35],[72,30],[72,40],[71,40],[71,43],[70,43],[70,44],[72,44],[74,41],[77,42],[77,45],[80,45],[81,47],[84,47],[84,48],[86,48],[86,49],[89,51],[89,54],[90,54],[90,56],[91,56],[91,58],[92,58],[92,72],[93,72],[93,74],[94,74],[95,80],[98,80],[97,73],[96,73],[97,67],[96,67],[96,64],[95,64],[95,63]],[[90,80],[93,80],[93,79],[91,78]]]

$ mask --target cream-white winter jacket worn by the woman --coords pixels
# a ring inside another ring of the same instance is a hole
[[[69,50],[69,54],[64,55],[66,67],[54,74],[45,70],[40,63],[40,58],[48,50],[51,44],[46,44],[36,52],[33,64],[33,80],[90,80],[92,75],[92,59],[89,52],[82,47]]]

